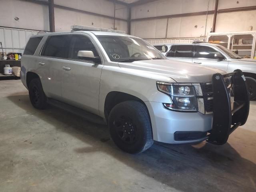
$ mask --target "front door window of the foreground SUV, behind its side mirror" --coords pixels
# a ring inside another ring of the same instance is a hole
[[[82,35],[73,35],[69,58],[75,60],[85,60],[78,58],[78,51],[92,51],[94,53],[94,56],[99,56],[94,44],[88,37]],[[88,58],[86,60],[94,60],[94,58]]]

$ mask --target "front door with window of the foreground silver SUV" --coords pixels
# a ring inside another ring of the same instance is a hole
[[[64,102],[99,114],[100,75],[103,65],[92,58],[80,58],[78,51],[92,51],[99,56],[90,36],[72,34],[69,60],[62,66],[62,99]]]

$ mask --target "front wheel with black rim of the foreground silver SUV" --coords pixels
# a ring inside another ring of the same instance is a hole
[[[114,106],[109,114],[108,128],[116,146],[131,154],[147,150],[154,142],[148,110],[137,101]]]

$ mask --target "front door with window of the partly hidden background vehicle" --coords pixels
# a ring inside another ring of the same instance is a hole
[[[208,45],[196,44],[193,63],[215,67],[226,71],[228,69],[227,58],[222,54],[224,59],[219,60],[218,58],[214,57],[215,54],[221,54],[217,48]]]

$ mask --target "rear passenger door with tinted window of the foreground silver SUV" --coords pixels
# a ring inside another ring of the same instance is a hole
[[[62,100],[62,66],[68,62],[71,36],[58,34],[49,36],[38,60],[38,74],[46,96]]]

